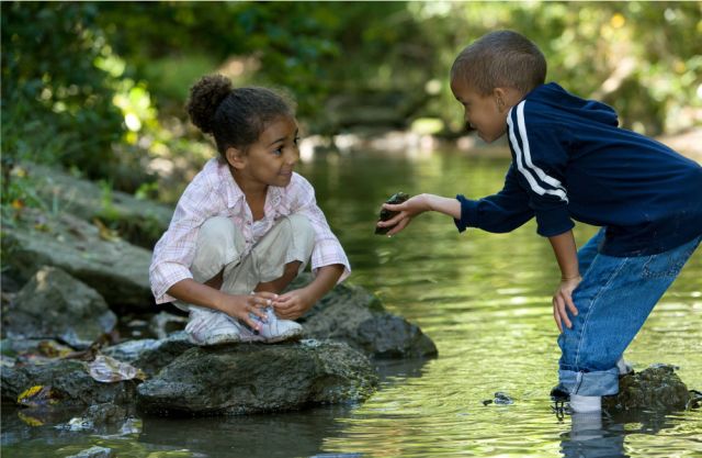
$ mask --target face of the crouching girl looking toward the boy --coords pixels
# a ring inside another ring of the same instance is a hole
[[[286,187],[299,159],[297,141],[297,122],[293,116],[281,115],[269,123],[245,155],[229,163],[237,170],[237,178],[248,183]]]

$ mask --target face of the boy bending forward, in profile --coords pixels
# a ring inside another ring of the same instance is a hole
[[[466,124],[475,129],[480,138],[491,143],[505,134],[509,107],[498,89],[494,93],[482,96],[458,77],[451,79],[451,91],[465,109]]]

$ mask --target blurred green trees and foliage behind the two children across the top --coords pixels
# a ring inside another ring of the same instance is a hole
[[[701,5],[3,2],[3,215],[37,203],[16,167],[24,160],[172,199],[159,192],[159,174],[212,155],[182,109],[204,74],[292,92],[307,135],[371,120],[387,130],[428,121],[433,134],[455,137],[449,68],[496,29],[530,36],[546,54],[548,80],[612,104],[623,126],[684,131],[702,107]]]

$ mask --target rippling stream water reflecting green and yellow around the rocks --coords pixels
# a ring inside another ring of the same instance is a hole
[[[588,434],[558,418],[557,328],[550,299],[559,278],[533,222],[510,234],[458,234],[427,214],[401,234],[373,235],[381,202],[398,190],[480,197],[498,191],[505,158],[327,155],[298,170],[352,262],[351,281],[421,326],[439,348],[423,361],[376,361],[380,390],[359,405],[272,415],[140,417],[120,428],[73,432],[30,426],[2,410],[4,457],[65,457],[93,445],[122,457],[700,457],[702,411],[605,417]],[[578,225],[579,244],[595,227]],[[626,353],[702,390],[702,254],[693,255]],[[484,405],[495,392],[511,405]]]

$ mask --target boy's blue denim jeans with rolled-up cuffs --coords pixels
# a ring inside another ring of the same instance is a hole
[[[616,361],[702,241],[653,256],[613,257],[598,253],[603,237],[602,228],[578,250],[578,315],[570,315],[573,327],[564,326],[558,336],[559,388],[570,394],[619,392]]]

